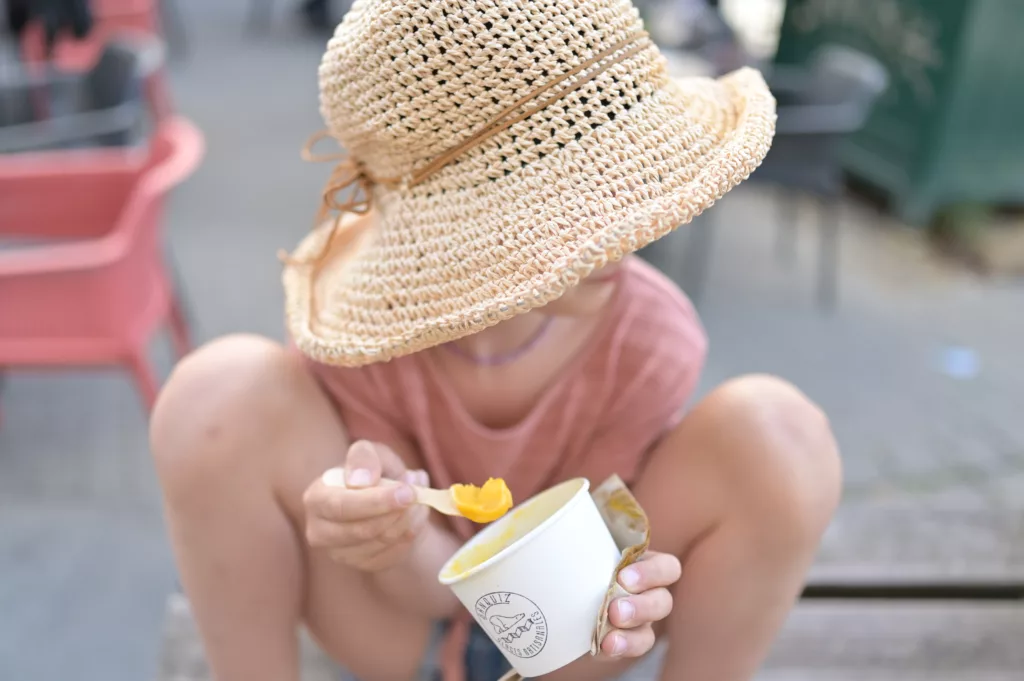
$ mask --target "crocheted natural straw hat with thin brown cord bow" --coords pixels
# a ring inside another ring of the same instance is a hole
[[[348,156],[286,258],[286,311],[341,366],[558,298],[745,179],[775,122],[755,71],[670,79],[629,0],[357,0],[319,86]]]

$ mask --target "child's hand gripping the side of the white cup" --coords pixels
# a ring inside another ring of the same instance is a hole
[[[618,573],[618,584],[634,594],[616,599],[608,608],[608,620],[616,629],[601,641],[608,657],[640,657],[654,647],[653,624],[672,612],[669,587],[679,581],[682,566],[668,553],[648,552]]]

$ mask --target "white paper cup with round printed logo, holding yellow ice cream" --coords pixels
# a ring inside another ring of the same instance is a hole
[[[517,506],[438,576],[522,677],[590,652],[621,554],[589,490],[577,478]]]

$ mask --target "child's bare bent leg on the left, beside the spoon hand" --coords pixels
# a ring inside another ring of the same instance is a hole
[[[297,681],[306,620],[366,681],[406,681],[426,620],[376,597],[358,572],[310,552],[302,494],[347,449],[302,364],[254,337],[216,341],[175,370],[153,417],[175,555],[217,681]]]

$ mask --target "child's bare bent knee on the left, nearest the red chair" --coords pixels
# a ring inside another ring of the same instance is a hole
[[[214,482],[239,470],[237,464],[256,464],[251,443],[286,414],[302,373],[296,357],[258,336],[227,336],[185,357],[164,386],[150,426],[165,493]]]

